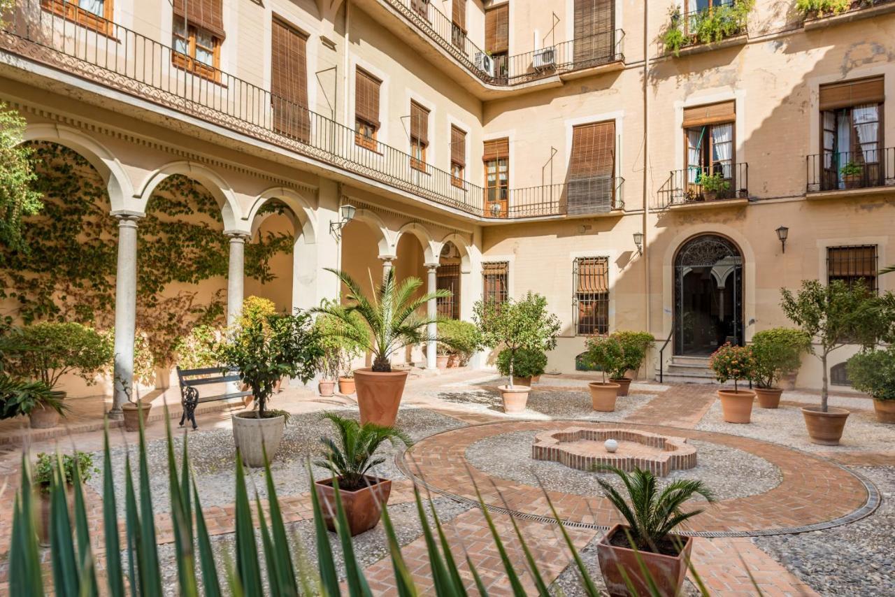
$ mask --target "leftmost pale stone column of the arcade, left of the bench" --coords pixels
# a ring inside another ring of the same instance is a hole
[[[141,215],[118,218],[118,268],[115,271],[115,397],[110,419],[124,416],[122,405],[133,392],[133,338],[137,326],[137,221]]]

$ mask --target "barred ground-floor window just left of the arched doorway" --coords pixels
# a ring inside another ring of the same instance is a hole
[[[575,334],[609,333],[609,258],[579,257],[573,267],[575,280]]]

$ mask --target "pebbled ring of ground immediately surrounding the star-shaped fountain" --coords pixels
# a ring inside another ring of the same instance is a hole
[[[621,487],[618,477],[610,473],[587,473],[557,462],[514,457],[532,453],[537,433],[516,431],[481,439],[466,448],[466,459],[479,470],[503,479],[533,486],[541,479],[549,490],[575,495],[600,495],[598,476]],[[696,466],[661,477],[660,487],[676,479],[699,479],[714,491],[716,498],[733,499],[763,493],[780,484],[780,470],[759,456],[705,441],[688,440],[688,443],[696,447]]]

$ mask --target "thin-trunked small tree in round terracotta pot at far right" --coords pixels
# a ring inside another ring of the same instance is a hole
[[[813,353],[821,360],[821,405],[805,406],[805,427],[811,441],[822,446],[838,446],[848,419],[848,410],[830,406],[829,368],[831,352],[847,344],[874,345],[889,325],[880,317],[877,297],[863,284],[848,285],[832,280],[824,286],[817,280],[803,280],[797,294],[783,288],[780,306],[789,320],[819,345]]]

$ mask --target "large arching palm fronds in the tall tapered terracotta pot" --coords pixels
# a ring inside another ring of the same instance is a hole
[[[433,293],[417,295],[422,280],[418,277],[407,277],[398,282],[395,279],[395,269],[392,268],[388,270],[388,274],[373,296],[367,298],[361,285],[347,272],[338,269],[327,270],[336,274],[347,287],[346,298],[350,304],[348,306],[329,304],[312,311],[343,321],[345,323],[343,329],[349,331],[337,329],[333,333],[346,339],[358,340],[363,348],[370,351],[373,355],[373,371],[388,373],[391,371],[389,358],[396,351],[405,346],[437,339],[430,336],[427,328],[431,323],[439,323],[442,318],[431,318],[422,315],[421,312],[431,300],[450,298],[452,293],[449,290],[439,289]],[[370,332],[361,338],[354,337],[352,331],[357,315],[360,315]],[[449,342],[449,339],[445,338],[444,342]]]

